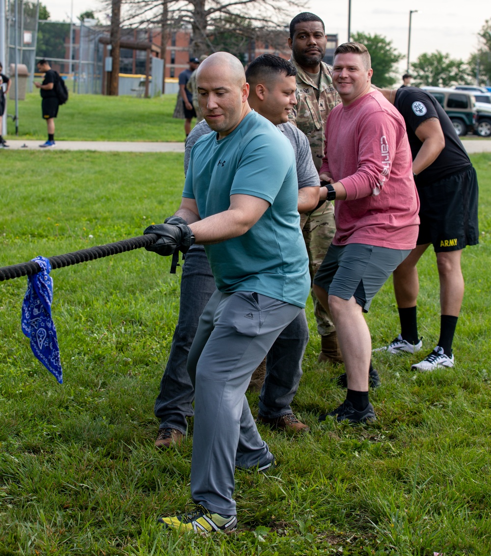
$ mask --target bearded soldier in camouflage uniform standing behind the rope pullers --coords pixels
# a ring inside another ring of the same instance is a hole
[[[322,19],[310,12],[302,12],[290,23],[288,44],[292,51],[290,62],[297,68],[297,105],[290,113],[290,122],[305,133],[315,167],[320,170],[324,155],[324,130],[329,112],[339,102],[331,79],[332,68],[322,59],[327,38]],[[336,231],[334,207],[321,201],[311,212],[301,215],[300,225],[309,254],[309,270],[314,278]],[[311,292],[317,330],[321,336],[321,361],[342,361],[338,335],[330,315]]]

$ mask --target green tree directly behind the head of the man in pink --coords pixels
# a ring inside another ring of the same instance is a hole
[[[377,87],[386,88],[394,84],[396,79],[396,64],[404,58],[404,55],[396,51],[392,41],[388,41],[379,34],[353,33],[351,41],[364,44],[371,57],[373,77],[371,81]]]

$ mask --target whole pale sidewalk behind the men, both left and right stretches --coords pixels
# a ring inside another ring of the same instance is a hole
[[[41,145],[43,141],[8,140],[7,142],[12,150],[53,150],[53,148],[39,148],[39,145]],[[465,139],[462,143],[469,155],[477,152],[491,152],[491,139]],[[57,141],[54,149],[57,151],[184,152],[184,142],[147,143],[143,141]]]

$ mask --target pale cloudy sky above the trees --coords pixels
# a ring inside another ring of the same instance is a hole
[[[42,0],[51,19],[70,21],[73,17],[101,7],[100,0]],[[348,38],[349,0],[310,0],[308,9],[323,18],[327,33],[338,33],[339,42]],[[423,52],[439,49],[453,58],[467,59],[478,48],[477,33],[485,19],[491,19],[487,0],[351,0],[351,31],[379,33],[393,42],[400,53],[408,52],[409,11],[411,23],[411,60]],[[406,61],[402,62],[405,67]]]

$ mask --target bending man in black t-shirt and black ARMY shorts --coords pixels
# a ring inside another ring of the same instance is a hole
[[[421,205],[416,247],[394,271],[401,333],[379,349],[393,354],[421,349],[416,264],[433,244],[440,279],[440,338],[435,349],[412,368],[432,371],[453,367],[452,342],[464,297],[460,256],[465,246],[479,241],[477,176],[450,118],[432,95],[417,87],[379,91],[404,117]]]

